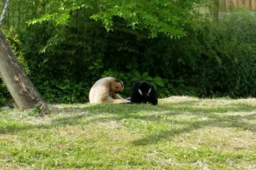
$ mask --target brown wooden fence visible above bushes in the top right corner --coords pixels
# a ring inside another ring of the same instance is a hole
[[[220,0],[220,5],[226,10],[234,6],[244,6],[251,11],[256,11],[256,0]]]

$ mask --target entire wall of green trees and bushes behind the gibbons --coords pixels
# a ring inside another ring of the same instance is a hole
[[[160,97],[255,96],[256,15],[217,20],[212,2],[13,0],[2,29],[48,102],[86,102],[104,76],[124,81],[123,97],[139,79]]]

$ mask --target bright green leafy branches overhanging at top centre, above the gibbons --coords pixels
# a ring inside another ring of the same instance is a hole
[[[182,18],[185,9],[168,0],[160,1],[99,1],[100,11],[90,18],[100,20],[107,32],[114,31],[113,16],[126,21],[133,30],[146,30],[149,38],[165,34],[170,38],[180,38],[186,34]]]

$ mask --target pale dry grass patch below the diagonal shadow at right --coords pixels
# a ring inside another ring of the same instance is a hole
[[[250,151],[251,148],[256,148],[256,133],[249,130],[205,126],[191,133],[179,135],[175,142],[178,146],[195,146],[198,149],[205,145],[221,151]]]

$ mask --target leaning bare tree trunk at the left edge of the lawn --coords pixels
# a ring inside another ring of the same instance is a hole
[[[0,76],[21,110],[32,109],[38,105],[42,114],[50,113],[45,101],[22,69],[1,29]]]

